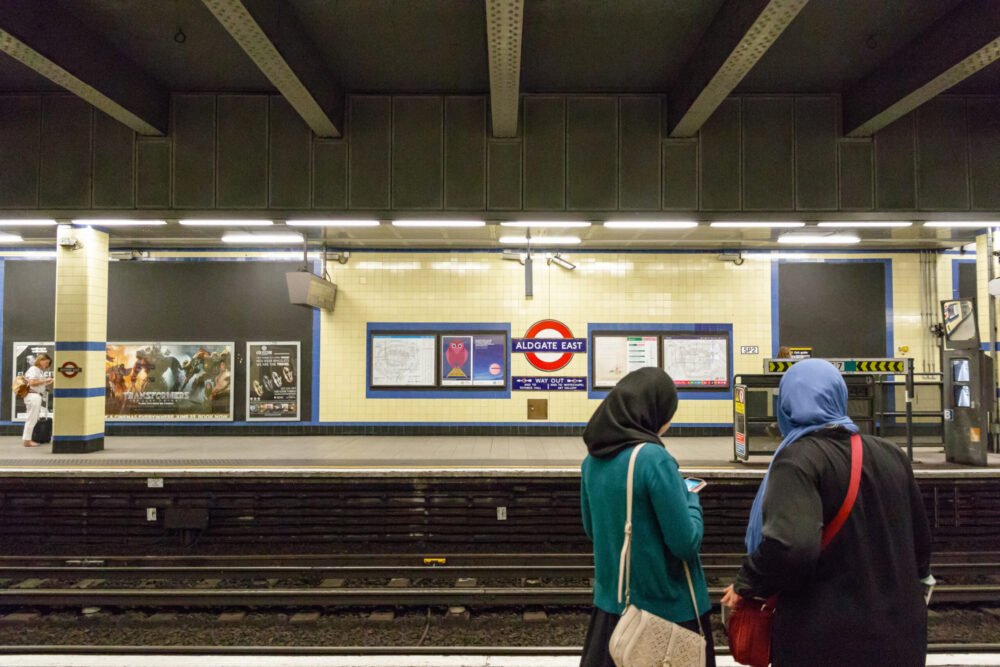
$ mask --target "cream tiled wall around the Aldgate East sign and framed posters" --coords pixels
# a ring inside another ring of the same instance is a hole
[[[759,372],[771,353],[771,272],[778,255],[751,253],[741,266],[716,253],[572,253],[574,271],[534,262],[534,296],[524,296],[524,267],[498,253],[356,253],[330,263],[339,286],[337,309],[322,318],[320,420],[328,422],[526,422],[527,399],[549,400],[548,421],[585,422],[599,401],[586,392],[511,392],[510,399],[366,398],[368,322],[509,322],[522,337],[534,322],[553,318],[574,336],[588,323],[731,323],[734,372]],[[889,259],[892,263],[896,356],[922,361],[920,259],[917,253],[796,254],[802,261]],[[786,261],[795,261],[786,260]],[[942,261],[940,265],[945,265]],[[945,278],[939,265],[939,283]],[[950,267],[947,284],[950,294]],[[759,346],[758,355],[739,354]],[[513,354],[512,375],[543,375]],[[587,375],[586,355],[553,375]],[[675,422],[731,422],[724,400],[684,400]],[[539,422],[543,423],[543,422]]]

